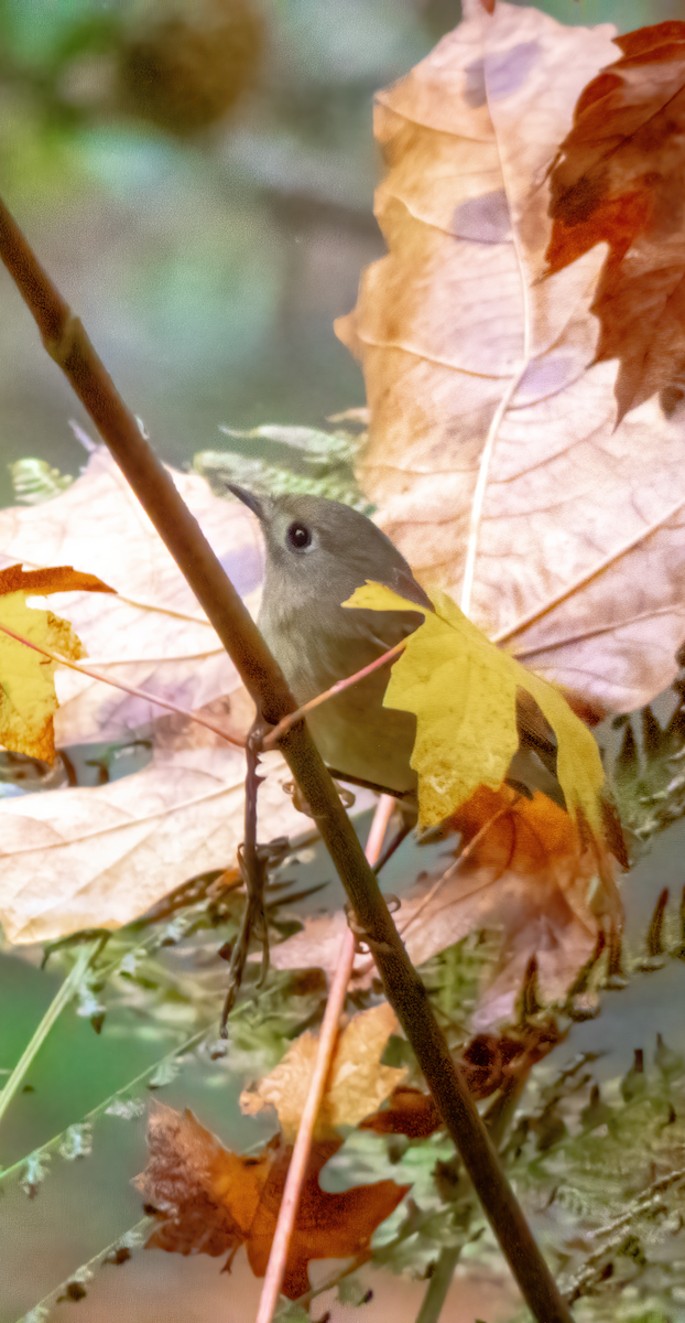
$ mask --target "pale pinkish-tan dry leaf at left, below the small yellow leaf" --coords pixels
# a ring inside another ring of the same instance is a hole
[[[262,840],[307,832],[267,755]],[[245,824],[245,757],[179,718],[157,724],[151,765],[106,786],[0,802],[0,922],[11,942],[119,927],[163,896],[235,863]]]

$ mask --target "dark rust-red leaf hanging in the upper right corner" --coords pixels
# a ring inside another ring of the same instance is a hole
[[[608,245],[591,311],[595,361],[620,363],[620,422],[656,392],[666,411],[685,398],[685,22],[615,44],[623,56],[583,89],[559,147],[546,257],[554,274]]]

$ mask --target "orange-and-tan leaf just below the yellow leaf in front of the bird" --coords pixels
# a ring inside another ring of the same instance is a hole
[[[542,999],[563,999],[600,933],[620,931],[615,859],[546,795],[526,799],[509,786],[481,786],[451,824],[462,837],[455,855],[472,848],[444,882],[424,876],[402,905],[399,926],[413,962],[469,931],[497,927],[500,957],[475,1025],[510,1019],[532,957]]]

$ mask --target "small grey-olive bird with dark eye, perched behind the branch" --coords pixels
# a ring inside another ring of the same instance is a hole
[[[407,562],[365,515],[321,496],[268,496],[230,486],[258,517],[266,540],[266,577],[258,626],[298,705],[361,671],[423,620],[415,611],[366,611],[341,606],[366,579],[386,583],[432,610]],[[307,722],[324,762],[341,779],[397,792],[415,802],[410,766],[417,733],[413,713],[383,708],[389,669],[315,708]],[[555,778],[554,734],[521,691],[520,749],[509,779],[544,790],[563,804]]]

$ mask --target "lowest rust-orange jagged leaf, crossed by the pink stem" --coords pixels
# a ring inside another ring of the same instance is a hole
[[[381,1180],[328,1193],[319,1174],[340,1148],[340,1138],[319,1140],[309,1155],[283,1291],[296,1299],[309,1290],[312,1259],[364,1253],[376,1228],[409,1187]],[[255,1277],[263,1277],[276,1225],[292,1146],[276,1135],[259,1154],[243,1158],[223,1148],[190,1111],[155,1103],[148,1129],[148,1164],[135,1184],[159,1209],[160,1226],[148,1248],[179,1254],[227,1256],[247,1249]]]

